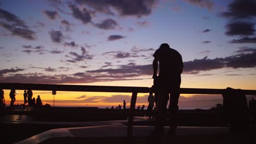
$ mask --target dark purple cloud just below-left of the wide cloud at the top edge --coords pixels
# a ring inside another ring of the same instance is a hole
[[[84,24],[87,24],[91,22],[91,14],[90,11],[86,8],[83,8],[83,10],[80,10],[75,5],[69,5],[69,8],[72,11],[72,15],[75,19],[82,21]]]

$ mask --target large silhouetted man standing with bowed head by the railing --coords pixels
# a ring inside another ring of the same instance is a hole
[[[164,132],[166,105],[170,94],[169,110],[172,115],[172,123],[168,133],[175,134],[181,73],[183,71],[182,56],[178,51],[171,49],[168,44],[161,44],[160,48],[155,51],[153,57],[153,79],[159,94],[155,130],[161,133]],[[159,75],[157,76],[158,62]]]

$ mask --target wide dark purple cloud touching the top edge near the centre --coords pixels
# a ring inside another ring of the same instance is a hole
[[[140,0],[140,1],[126,1],[126,0],[76,0],[79,4],[85,4],[96,11],[114,15],[113,9],[118,12],[120,16],[147,16],[151,14],[152,8],[158,1],[156,0]]]

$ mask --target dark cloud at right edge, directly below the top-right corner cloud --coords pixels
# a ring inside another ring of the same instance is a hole
[[[226,27],[226,35],[253,35],[255,32],[252,22],[231,22]]]

